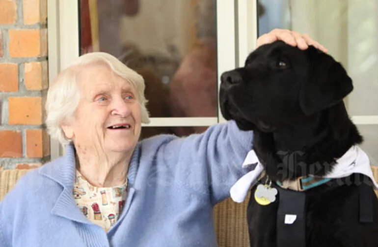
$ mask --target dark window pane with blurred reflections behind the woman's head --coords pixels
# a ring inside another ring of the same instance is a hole
[[[139,72],[151,117],[217,116],[216,0],[80,3],[81,54],[105,51]]]

